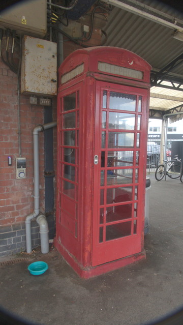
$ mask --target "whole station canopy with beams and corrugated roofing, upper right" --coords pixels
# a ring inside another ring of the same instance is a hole
[[[153,0],[103,0],[111,5],[105,46],[126,48],[151,66],[150,118],[183,118],[183,12]]]

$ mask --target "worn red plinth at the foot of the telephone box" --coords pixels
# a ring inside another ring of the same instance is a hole
[[[64,257],[64,259],[69,263],[69,265],[72,267],[72,269],[78,274],[80,278],[83,279],[89,279],[92,277],[96,277],[98,275],[114,271],[120,268],[125,267],[128,264],[132,264],[134,262],[137,262],[141,259],[145,259],[145,250],[142,250],[142,252],[134,255],[130,255],[124,258],[120,258],[108,263],[104,263],[101,265],[98,265],[97,267],[86,267],[84,268],[82,265],[80,265],[76,259],[68,253],[68,251],[65,249],[65,247],[60,244],[57,239],[54,239],[54,247],[57,249],[57,251]]]

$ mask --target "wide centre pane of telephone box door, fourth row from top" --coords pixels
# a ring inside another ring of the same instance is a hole
[[[108,152],[107,166],[125,167],[133,164],[133,151],[111,151]]]

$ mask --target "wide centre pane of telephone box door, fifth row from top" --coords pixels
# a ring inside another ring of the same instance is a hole
[[[133,169],[112,169],[107,171],[107,185],[132,183]]]

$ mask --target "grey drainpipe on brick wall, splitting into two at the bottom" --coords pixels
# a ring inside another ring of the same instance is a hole
[[[39,132],[47,130],[56,126],[56,122],[39,125],[33,130],[34,142],[34,212],[29,214],[25,219],[25,233],[26,233],[26,252],[32,252],[31,240],[31,220],[37,218],[37,223],[40,226],[41,237],[41,252],[46,254],[49,252],[49,239],[48,239],[48,223],[46,217],[40,213],[39,203]]]

